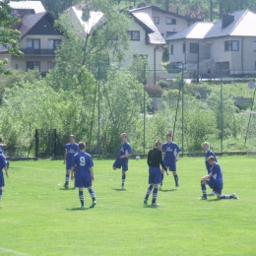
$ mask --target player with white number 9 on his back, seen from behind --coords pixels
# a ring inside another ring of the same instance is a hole
[[[95,180],[94,176],[94,161],[92,157],[86,152],[86,144],[84,142],[79,143],[79,153],[77,153],[72,160],[71,179],[74,179],[74,168],[76,166],[76,179],[75,186],[79,188],[79,199],[81,202],[81,209],[85,208],[84,204],[84,188],[88,188],[88,191],[93,199],[93,204],[90,208],[96,206],[96,194],[92,188],[92,181]]]

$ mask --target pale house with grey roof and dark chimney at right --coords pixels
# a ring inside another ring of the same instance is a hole
[[[191,76],[255,74],[256,14],[241,10],[217,23],[196,23],[166,38],[170,62]]]

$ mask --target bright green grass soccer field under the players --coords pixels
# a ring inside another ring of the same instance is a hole
[[[0,255],[256,255],[256,159],[218,160],[223,194],[235,192],[239,200],[198,200],[204,158],[183,158],[180,189],[165,175],[160,207],[144,206],[146,160],[129,160],[125,190],[113,160],[95,160],[97,204],[89,209],[84,190],[85,210],[78,190],[63,188],[61,160],[12,161],[0,209]]]

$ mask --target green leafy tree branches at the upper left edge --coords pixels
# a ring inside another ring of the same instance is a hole
[[[19,0],[16,0],[19,1]],[[4,46],[9,53],[22,56],[19,50],[20,32],[11,29],[20,18],[11,16],[10,0],[0,1],[0,45]],[[11,72],[5,69],[8,59],[0,60],[0,74],[8,75]]]

